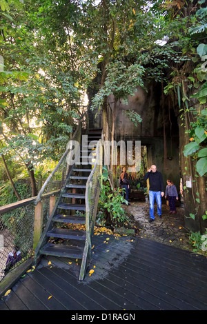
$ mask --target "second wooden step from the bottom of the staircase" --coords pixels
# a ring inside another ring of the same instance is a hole
[[[86,232],[83,230],[68,230],[67,228],[53,228],[47,232],[47,236],[59,239],[85,240]]]

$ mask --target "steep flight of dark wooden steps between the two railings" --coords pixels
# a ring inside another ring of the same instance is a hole
[[[97,143],[101,130],[89,130],[88,143]],[[88,156],[88,154],[90,154]],[[86,161],[88,156],[88,163]],[[85,159],[83,159],[85,158]],[[70,176],[61,188],[55,207],[34,254],[34,263],[43,254],[71,259],[83,259],[86,230],[71,229],[72,224],[86,224],[86,182],[95,163],[96,150],[81,146],[80,163],[73,166]],[[91,163],[90,163],[91,161]],[[69,225],[70,224],[70,225]],[[86,256],[85,256],[86,258]]]

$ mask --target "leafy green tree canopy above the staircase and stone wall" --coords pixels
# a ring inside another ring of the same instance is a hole
[[[43,161],[59,160],[98,73],[91,109],[107,114],[110,94],[127,102],[152,79],[164,82],[166,93],[175,85],[180,90],[180,81],[166,79],[166,70],[175,73],[173,64],[199,59],[201,88],[193,96],[206,102],[202,0],[0,0],[0,8],[1,155],[26,168],[33,195],[35,170]],[[132,113],[130,119],[141,120]],[[193,152],[192,143],[190,149],[186,154]],[[206,159],[205,152],[199,156]]]

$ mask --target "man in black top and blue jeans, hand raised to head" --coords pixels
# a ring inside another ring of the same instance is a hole
[[[164,182],[162,179],[162,175],[157,171],[157,167],[155,164],[151,165],[151,168],[148,170],[146,175],[144,176],[144,180],[149,179],[150,182],[150,190],[149,190],[149,198],[150,198],[150,223],[155,220],[154,216],[154,203],[155,199],[157,201],[157,214],[159,219],[161,219],[161,197],[164,196]]]

